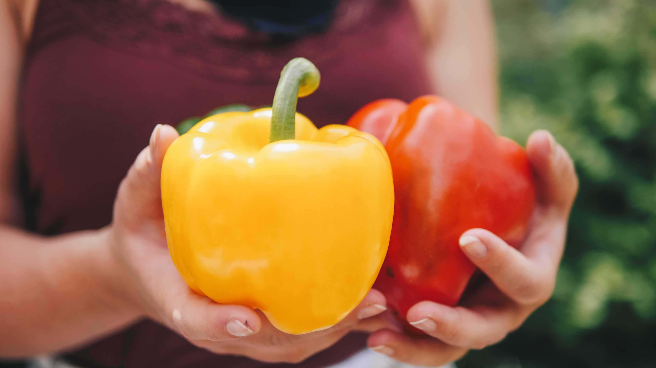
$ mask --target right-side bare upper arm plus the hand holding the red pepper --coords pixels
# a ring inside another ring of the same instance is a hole
[[[496,130],[497,58],[489,1],[413,3],[429,45],[427,65],[436,91]],[[468,230],[461,237],[462,249],[491,281],[455,308],[424,301],[408,311],[407,321],[435,339],[403,335],[388,316],[362,322],[359,328],[372,332],[370,348],[405,363],[443,365],[469,349],[499,342],[549,299],[578,179],[571,158],[548,132],[531,135],[527,154],[538,202],[520,250],[487,230]],[[482,254],[483,248],[482,257],[472,255]]]

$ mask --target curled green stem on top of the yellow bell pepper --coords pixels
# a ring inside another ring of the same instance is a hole
[[[319,70],[306,58],[293,58],[280,73],[271,114],[269,142],[295,138],[296,103],[319,86]]]

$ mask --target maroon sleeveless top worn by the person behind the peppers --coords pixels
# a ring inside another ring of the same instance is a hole
[[[430,93],[403,0],[344,0],[331,27],[276,43],[218,14],[166,0],[41,0],[21,108],[23,200],[31,230],[98,229],[155,124],[229,103],[271,103],[281,68],[312,60],[321,86],[298,102],[316,125],[344,123],[377,98]],[[72,265],[75,267],[75,265]],[[351,334],[298,365],[216,356],[145,320],[68,355],[83,367],[324,367],[364,346]]]

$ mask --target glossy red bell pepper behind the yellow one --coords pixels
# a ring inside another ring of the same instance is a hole
[[[438,96],[373,101],[348,125],[377,136],[390,157],[394,224],[374,287],[420,333],[405,322],[409,308],[455,306],[476,269],[459,246],[464,231],[487,229],[514,247],[523,240],[535,203],[527,156]]]

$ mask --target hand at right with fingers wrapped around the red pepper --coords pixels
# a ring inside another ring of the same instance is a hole
[[[383,318],[361,323],[361,329],[378,329],[367,341],[370,348],[411,364],[443,365],[499,342],[550,298],[578,180],[571,158],[548,132],[531,135],[527,154],[537,204],[520,250],[487,230],[464,232],[461,248],[489,282],[456,307],[423,301],[410,308],[407,321],[434,339],[403,335]]]

